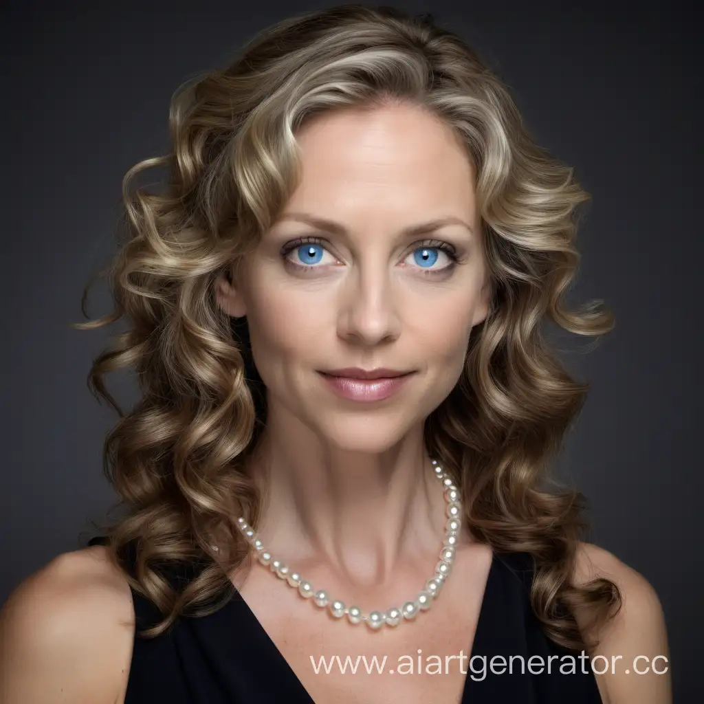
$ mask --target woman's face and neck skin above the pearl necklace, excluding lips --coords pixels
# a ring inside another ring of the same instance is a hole
[[[234,285],[220,280],[217,299],[247,316],[268,389],[268,427],[250,467],[258,481],[271,479],[264,544],[296,564],[317,556],[346,586],[371,586],[391,579],[419,541],[436,550],[444,527],[422,431],[486,317],[473,170],[447,127],[409,108],[348,111],[307,125],[298,139],[300,186]],[[298,222],[298,213],[346,233]],[[399,234],[440,218],[467,225]],[[302,237],[325,248],[306,270],[287,261],[305,263],[308,244],[303,259],[298,247],[282,256]],[[463,263],[450,266],[433,250],[435,262],[422,268],[414,253],[434,240]],[[416,372],[386,401],[360,403],[338,398],[316,371],[340,367]]]

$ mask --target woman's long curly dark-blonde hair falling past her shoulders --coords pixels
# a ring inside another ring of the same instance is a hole
[[[462,491],[472,535],[532,555],[530,597],[546,636],[579,650],[574,609],[588,606],[601,624],[620,608],[612,582],[572,584],[584,497],[547,472],[589,386],[570,377],[541,323],[595,337],[613,327],[602,301],[575,311],[563,299],[579,262],[575,213],[590,196],[536,145],[508,87],[460,37],[430,15],[346,5],[260,32],[226,68],[177,90],[172,151],[137,163],[122,184],[126,237],[103,272],[115,308],[76,325],[127,322],[94,360],[89,387],[120,415],[103,460],[125,515],[106,529],[126,572],[134,550],[130,584],[164,615],[144,636],[230,598],[227,574],[248,553],[236,519],[256,525],[260,512],[243,467],[265,394],[246,323],[217,306],[215,279],[241,264],[294,191],[303,122],[389,101],[431,111],[466,145],[491,272],[489,315],[472,329],[458,384],[427,418],[427,450]],[[161,192],[134,187],[161,166]],[[129,413],[103,379],[125,366],[141,391]],[[177,583],[174,570],[191,572]]]

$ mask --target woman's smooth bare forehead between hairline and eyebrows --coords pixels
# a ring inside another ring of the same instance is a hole
[[[346,109],[296,134],[301,182],[287,208],[379,224],[454,216],[474,222],[474,170],[455,133],[414,106]]]

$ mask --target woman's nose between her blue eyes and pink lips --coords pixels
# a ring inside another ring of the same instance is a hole
[[[351,344],[363,346],[398,338],[401,317],[397,293],[389,270],[379,259],[370,266],[354,269],[341,303],[339,336]]]

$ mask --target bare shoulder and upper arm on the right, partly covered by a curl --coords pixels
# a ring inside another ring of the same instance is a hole
[[[579,543],[574,582],[610,579],[622,607],[590,635],[600,643],[591,653],[604,704],[670,704],[670,651],[665,615],[652,584],[616,555],[593,543]],[[577,616],[579,622],[579,615]]]

